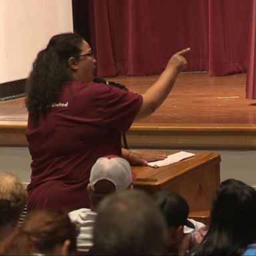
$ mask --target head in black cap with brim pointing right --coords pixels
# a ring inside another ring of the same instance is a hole
[[[183,238],[183,227],[195,228],[193,223],[187,219],[189,205],[179,193],[173,191],[159,191],[153,197],[168,225],[169,239],[167,247],[169,250],[175,251]]]

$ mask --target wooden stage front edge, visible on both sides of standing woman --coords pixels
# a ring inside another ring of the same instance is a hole
[[[27,147],[26,128],[24,121],[0,121],[0,145]],[[135,149],[256,149],[255,127],[134,125],[126,136]]]

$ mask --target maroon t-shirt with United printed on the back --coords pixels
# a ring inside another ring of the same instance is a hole
[[[99,157],[121,155],[121,132],[129,129],[141,104],[137,93],[73,81],[65,83],[47,115],[29,115],[28,210],[90,207],[90,169]]]

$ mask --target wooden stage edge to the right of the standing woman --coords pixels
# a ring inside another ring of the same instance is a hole
[[[132,127],[127,141],[134,148],[256,149],[256,130],[248,127]]]

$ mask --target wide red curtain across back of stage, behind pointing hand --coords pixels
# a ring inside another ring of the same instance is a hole
[[[156,75],[191,47],[186,71],[246,71],[251,0],[88,0],[97,75]]]

